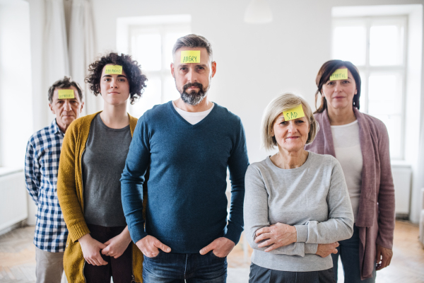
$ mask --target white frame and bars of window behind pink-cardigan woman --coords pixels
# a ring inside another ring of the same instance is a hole
[[[372,25],[383,25],[384,23],[390,25],[398,25],[404,28],[404,46],[402,54],[402,63],[391,66],[372,66],[370,64],[370,29]],[[406,136],[406,82],[407,82],[407,62],[408,62],[408,16],[360,16],[360,17],[337,17],[332,21],[332,41],[334,40],[334,30],[340,26],[363,25],[366,28],[366,50],[365,50],[365,64],[358,65],[358,70],[361,74],[361,99],[360,109],[368,113],[368,83],[369,77],[372,73],[393,73],[396,72],[401,75],[401,154],[398,157],[392,157],[394,160],[404,160],[405,158],[405,136]],[[331,54],[334,54],[334,45],[331,44]],[[339,58],[334,58],[339,59]]]

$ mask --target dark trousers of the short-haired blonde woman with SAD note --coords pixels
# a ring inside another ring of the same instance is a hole
[[[334,283],[333,269],[291,272],[270,270],[252,263],[249,283]]]

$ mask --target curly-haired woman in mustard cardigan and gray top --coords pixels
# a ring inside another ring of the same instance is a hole
[[[143,255],[130,245],[119,178],[137,124],[127,101],[141,97],[147,79],[125,54],[106,54],[89,71],[86,82],[104,106],[73,122],[64,137],[57,180],[69,229],[64,269],[69,282],[141,282]]]

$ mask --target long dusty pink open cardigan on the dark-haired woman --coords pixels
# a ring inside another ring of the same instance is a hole
[[[391,249],[394,232],[394,186],[391,177],[389,135],[382,121],[353,108],[359,124],[363,155],[362,188],[358,219],[361,279],[372,277],[377,244]],[[327,111],[314,115],[320,131],[312,144],[305,146],[317,154],[336,157]]]

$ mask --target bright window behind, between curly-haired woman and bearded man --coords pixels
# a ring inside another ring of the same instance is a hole
[[[131,115],[140,117],[154,105],[179,98],[170,72],[172,47],[177,38],[189,33],[189,23],[136,25],[129,28],[129,54],[141,64],[148,78],[143,97],[129,107]]]

